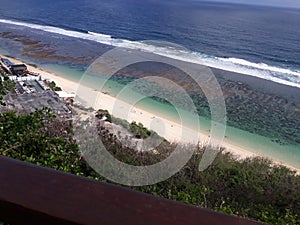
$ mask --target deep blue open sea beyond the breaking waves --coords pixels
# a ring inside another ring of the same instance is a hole
[[[0,19],[109,35],[98,40],[104,43],[169,41],[192,50],[208,65],[300,87],[299,10],[192,0],[0,0],[0,4]]]

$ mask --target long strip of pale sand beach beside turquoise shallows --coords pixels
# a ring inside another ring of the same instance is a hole
[[[93,107],[94,109],[107,109],[116,117],[126,119],[129,122],[136,121],[138,123],[142,123],[145,127],[156,131],[160,136],[163,136],[168,141],[194,142],[195,137],[199,137],[202,143],[207,143],[209,140],[209,137],[207,135],[200,132],[197,133],[196,131],[186,127],[182,127],[180,124],[171,121],[166,117],[155,115],[144,109],[132,106],[124,101],[120,101],[108,94],[97,92],[89,87],[82,87],[82,85],[80,85],[81,90],[78,92],[77,90],[79,87],[79,83],[77,82],[63,78],[58,74],[46,71],[42,68],[28,65],[26,62],[22,62],[20,60],[16,60],[7,56],[0,56],[8,58],[16,64],[25,63],[29,71],[39,73],[43,79],[55,81],[55,83],[58,86],[60,86],[64,91],[68,93],[76,93],[80,99],[85,100],[83,104],[86,104],[86,106]],[[82,90],[83,88],[84,90]],[[247,149],[243,146],[240,146],[238,143],[230,143],[227,140],[222,142],[222,147],[225,148],[225,151],[231,152],[233,155],[240,159],[244,159],[247,157],[262,156],[253,153],[251,149]],[[282,164],[288,168],[296,170],[297,173],[300,173],[300,169],[287,165],[286,163],[278,161],[274,161],[274,163]]]

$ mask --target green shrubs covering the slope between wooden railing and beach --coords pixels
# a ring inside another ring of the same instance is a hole
[[[139,124],[131,126],[138,132],[144,132]],[[109,182],[82,159],[72,132],[70,121],[57,118],[48,109],[31,114],[3,112],[0,113],[0,154]],[[159,154],[153,154],[134,152],[122,146],[108,132],[104,132],[101,139],[114,157],[133,165],[151,165],[161,161],[176,146],[165,141],[157,148]],[[181,147],[184,150],[191,146]],[[132,188],[267,224],[300,225],[300,176],[285,167],[272,166],[265,159],[237,161],[230,154],[219,154],[206,171],[199,172],[203,151],[199,149],[189,163],[170,179]]]

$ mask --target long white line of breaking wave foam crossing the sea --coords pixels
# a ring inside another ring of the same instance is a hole
[[[0,19],[0,22],[5,24],[24,26],[32,29],[38,29],[69,37],[91,40],[115,47],[123,47],[152,52],[173,59],[206,65],[209,67],[222,69],[226,71],[242,73],[245,75],[255,76],[265,80],[270,80],[273,82],[300,88],[300,70],[280,68],[270,66],[265,63],[254,63],[238,58],[221,58],[209,56],[199,52],[191,52],[184,48],[177,48],[175,45],[171,46],[167,43],[166,45],[158,45],[159,42],[130,41],[125,39],[112,38],[110,35],[100,34],[91,31],[83,33],[78,31],[66,30],[58,27],[44,26],[5,19]]]

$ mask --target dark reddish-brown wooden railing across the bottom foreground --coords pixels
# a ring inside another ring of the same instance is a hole
[[[6,157],[0,157],[0,220],[10,225],[259,224]]]

